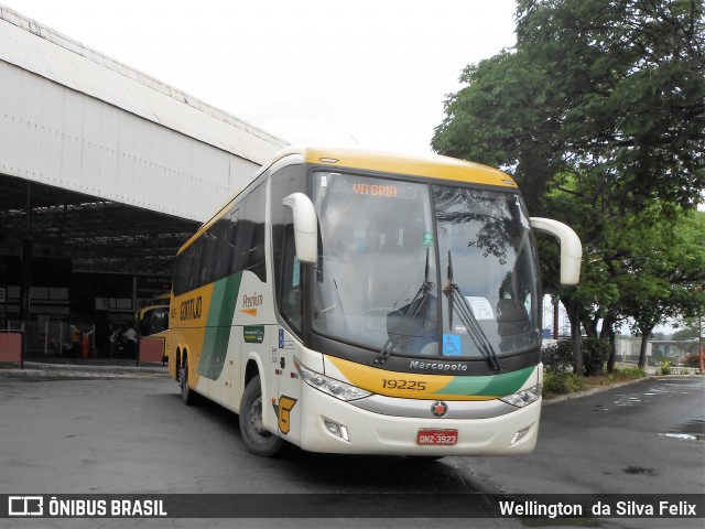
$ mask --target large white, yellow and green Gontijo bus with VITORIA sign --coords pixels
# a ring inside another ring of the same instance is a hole
[[[186,404],[238,415],[245,447],[512,455],[541,410],[531,218],[503,172],[445,156],[288,148],[180,249],[169,369]]]

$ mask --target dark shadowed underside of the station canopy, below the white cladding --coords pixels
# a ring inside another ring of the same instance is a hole
[[[29,214],[28,214],[29,212]],[[0,174],[0,248],[66,257],[74,271],[171,276],[199,223]]]

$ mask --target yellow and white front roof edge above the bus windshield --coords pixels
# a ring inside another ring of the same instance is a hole
[[[362,169],[429,179],[517,187],[511,176],[497,169],[437,154],[410,155],[362,149],[292,145],[276,153],[273,163],[292,154],[302,156],[305,163],[330,165],[332,168]]]

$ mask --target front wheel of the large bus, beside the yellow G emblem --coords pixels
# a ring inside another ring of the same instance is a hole
[[[240,404],[240,433],[248,452],[262,457],[276,454],[284,441],[264,429],[262,424],[262,385],[260,376],[253,377],[245,388]]]

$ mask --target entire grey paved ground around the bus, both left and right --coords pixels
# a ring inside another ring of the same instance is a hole
[[[236,415],[214,404],[184,407],[173,380],[149,374],[141,379],[130,374],[75,376],[0,377],[0,494],[304,493],[314,498],[322,493],[412,493],[417,495],[414,501],[434,501],[447,494],[496,490],[705,493],[705,443],[675,436],[702,439],[702,378],[654,379],[545,407],[539,447],[527,457],[451,457],[419,465],[402,457],[318,455],[296,449],[275,460],[256,457],[241,446]],[[11,527],[36,527],[10,521]],[[86,520],[43,521],[54,522],[43,527],[95,527]],[[160,521],[142,521],[140,527],[162,527]],[[248,527],[271,526],[249,521]],[[650,527],[663,527],[664,520],[651,521],[655,523]],[[702,527],[692,521],[669,525]],[[310,520],[306,527],[330,523]],[[380,527],[369,521],[334,523]],[[644,526],[639,520],[605,523],[601,527]],[[280,519],[276,525],[304,527],[302,520]],[[105,521],[105,527],[134,526],[135,520]],[[194,520],[176,523],[193,526]],[[512,526],[523,527],[516,520],[473,520],[473,527]],[[203,527],[235,523],[208,520]],[[458,523],[384,520],[384,527]],[[467,520],[460,527],[469,527]]]

